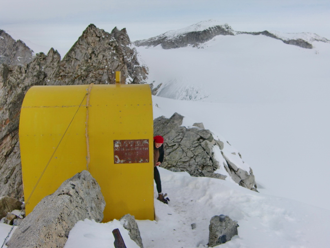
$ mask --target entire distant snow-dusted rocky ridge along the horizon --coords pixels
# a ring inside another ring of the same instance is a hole
[[[320,37],[316,34],[300,33],[295,38],[287,38],[279,35],[276,32],[269,32],[267,30],[261,32],[242,32],[234,31],[227,23],[218,24],[214,20],[201,21],[186,28],[168,31],[158,36],[146,39],[137,40],[133,44],[136,46],[158,46],[161,45],[164,49],[180,48],[186,46],[202,47],[201,45],[206,41],[213,39],[217,35],[265,35],[274,39],[283,41],[285,44],[295,45],[302,48],[313,48],[311,42],[321,41],[330,43],[330,40]],[[291,36],[289,34],[288,36]],[[299,36],[302,36],[299,38]],[[304,37],[306,36],[306,37]]]

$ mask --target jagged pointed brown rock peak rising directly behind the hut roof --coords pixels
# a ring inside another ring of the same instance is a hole
[[[140,66],[126,29],[111,33],[90,24],[60,62],[49,84],[110,84],[115,71],[121,71],[121,83],[143,83],[147,68]]]

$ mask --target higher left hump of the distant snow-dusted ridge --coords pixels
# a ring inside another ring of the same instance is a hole
[[[198,25],[195,24],[195,25]],[[180,48],[189,45],[198,46],[201,43],[213,39],[216,35],[235,35],[235,31],[226,23],[223,25],[210,26],[204,30],[193,31],[168,31],[156,37],[146,40],[137,40],[133,44],[136,46],[158,46],[164,49]]]

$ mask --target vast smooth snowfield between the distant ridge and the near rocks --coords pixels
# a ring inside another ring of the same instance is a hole
[[[165,103],[166,117],[198,116],[196,122],[240,151],[257,183],[329,209],[330,44],[314,41],[313,49],[304,49],[241,34],[203,45],[137,47],[149,83],[161,84],[157,96],[198,100]]]

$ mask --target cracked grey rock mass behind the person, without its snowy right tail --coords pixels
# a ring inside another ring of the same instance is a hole
[[[174,113],[169,119],[161,116],[153,122],[154,135],[164,137],[166,156],[161,167],[172,171],[187,171],[196,177],[225,179],[224,175],[213,175],[219,164],[213,156],[212,133],[199,128],[187,129],[181,126],[182,120],[182,115]]]

